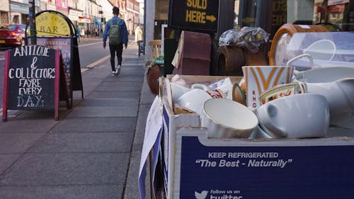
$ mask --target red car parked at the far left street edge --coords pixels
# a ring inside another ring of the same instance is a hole
[[[24,24],[1,24],[0,45],[25,45],[25,26]]]

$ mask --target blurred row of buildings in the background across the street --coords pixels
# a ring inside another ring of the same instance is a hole
[[[82,36],[101,36],[105,22],[112,18],[113,6],[120,8],[120,17],[133,34],[141,24],[139,2],[135,0],[34,0],[35,13],[57,11],[81,28]],[[0,23],[28,23],[28,0],[3,0],[0,4]]]

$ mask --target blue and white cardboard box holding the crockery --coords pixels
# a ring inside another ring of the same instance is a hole
[[[188,85],[225,78],[181,77]],[[173,113],[163,86],[161,149],[168,199],[353,198],[353,129],[331,127],[329,137],[314,139],[209,139],[199,115]]]

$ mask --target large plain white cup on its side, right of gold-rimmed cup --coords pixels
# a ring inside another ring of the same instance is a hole
[[[329,104],[314,93],[278,98],[257,109],[263,130],[275,137],[324,137],[329,130]]]

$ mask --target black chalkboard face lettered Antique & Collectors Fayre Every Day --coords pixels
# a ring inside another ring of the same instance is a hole
[[[54,109],[55,50],[39,45],[10,50],[8,108]]]

